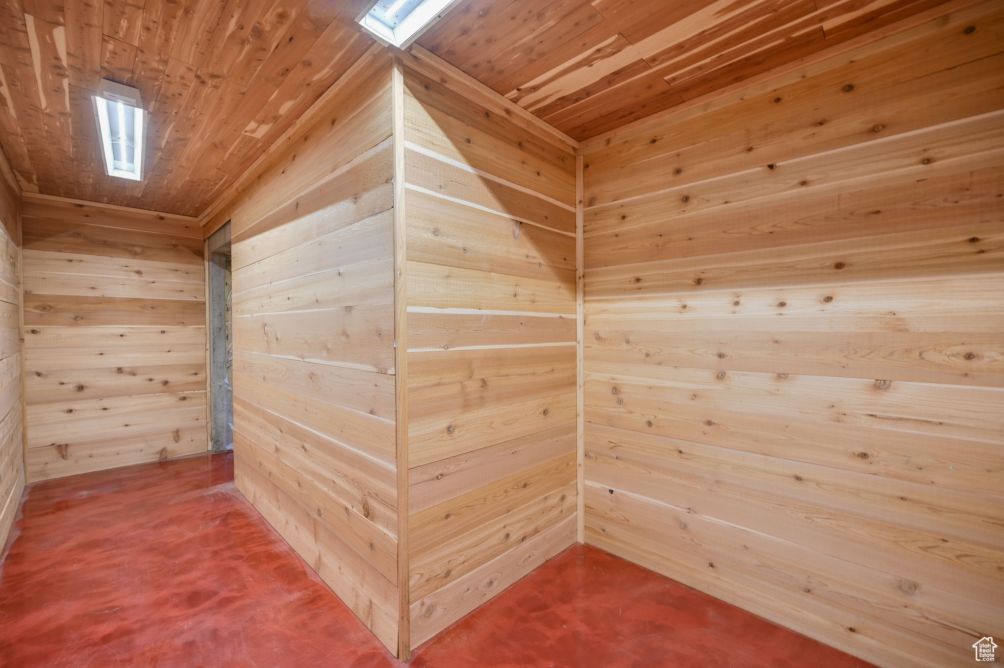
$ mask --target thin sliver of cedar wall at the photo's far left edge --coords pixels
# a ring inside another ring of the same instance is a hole
[[[19,193],[0,174],[0,552],[25,483],[19,208]]]

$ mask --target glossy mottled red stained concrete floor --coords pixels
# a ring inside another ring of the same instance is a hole
[[[0,665],[403,665],[232,480],[232,455],[207,454],[33,485],[0,571]],[[429,641],[410,665],[869,664],[575,546]]]

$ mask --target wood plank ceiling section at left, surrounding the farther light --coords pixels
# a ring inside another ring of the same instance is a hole
[[[197,215],[373,43],[359,4],[0,0],[0,147],[25,191]],[[104,175],[101,78],[151,113],[143,182]]]

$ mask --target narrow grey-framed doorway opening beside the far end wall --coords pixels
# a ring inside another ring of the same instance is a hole
[[[214,452],[234,449],[233,310],[230,221],[206,240],[209,442]]]

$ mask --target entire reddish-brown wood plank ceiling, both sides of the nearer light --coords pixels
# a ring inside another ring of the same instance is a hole
[[[373,42],[365,0],[0,0],[0,148],[22,189],[198,215]],[[419,43],[577,139],[944,0],[467,0]],[[138,87],[145,178],[89,94]]]

